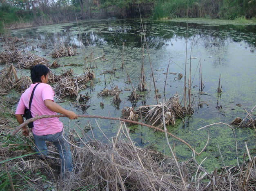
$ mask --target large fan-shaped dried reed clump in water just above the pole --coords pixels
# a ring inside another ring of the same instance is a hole
[[[174,125],[175,120],[177,118],[184,118],[183,108],[179,104],[178,95],[174,95],[169,100],[166,100],[164,103],[164,113],[165,113],[165,124],[167,125]],[[163,120],[162,120],[162,104],[154,106],[150,109],[145,117],[144,120],[147,124],[163,127]]]

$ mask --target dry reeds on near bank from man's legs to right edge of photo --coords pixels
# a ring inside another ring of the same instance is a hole
[[[125,126],[125,124],[124,124]],[[180,179],[176,162],[173,158],[163,155],[151,148],[137,148],[131,142],[116,138],[109,144],[96,139],[85,143],[79,137],[80,148],[72,143],[74,171],[62,180],[61,189],[90,188],[91,191],[122,190],[122,191],[155,191],[155,190],[253,190],[256,186],[254,162],[256,157],[245,161],[241,167],[217,168],[209,173],[194,158],[179,164],[186,189]],[[126,135],[129,132],[125,126]],[[103,133],[103,132],[102,132]],[[76,135],[79,135],[75,131]],[[74,134],[74,135],[75,135]],[[246,156],[246,154],[245,154]],[[88,187],[88,185],[93,185]]]

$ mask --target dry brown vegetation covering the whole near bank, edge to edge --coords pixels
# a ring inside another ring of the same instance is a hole
[[[100,127],[98,127],[100,128]],[[69,128],[70,129],[70,128]],[[11,130],[0,126],[1,135],[9,134]],[[82,129],[81,129],[82,130]],[[102,132],[103,133],[103,132]],[[104,135],[104,134],[103,134]],[[15,135],[18,138],[20,135]],[[105,135],[104,135],[105,136]],[[254,173],[255,159],[246,154],[239,166],[229,166],[223,169],[208,172],[194,158],[179,162],[184,188],[178,173],[174,158],[163,155],[151,148],[138,148],[129,138],[129,131],[123,122],[116,132],[116,136],[109,143],[102,143],[93,137],[88,137],[83,131],[69,132],[69,143],[73,155],[73,172],[60,178],[60,161],[56,149],[48,145],[49,156],[39,159],[36,155],[11,159],[4,163],[0,172],[12,174],[12,180],[22,180],[20,187],[29,185],[35,190],[70,191],[85,189],[90,191],[122,190],[122,191],[154,191],[154,190],[254,190],[256,177]],[[86,140],[86,142],[84,142]],[[1,143],[1,161],[14,156],[30,154],[33,146],[27,140],[28,150],[10,148],[16,145]],[[83,147],[80,147],[83,145]],[[2,164],[1,164],[2,165]],[[40,174],[40,177],[38,177]],[[43,176],[42,176],[43,175]],[[45,180],[46,177],[47,180]]]

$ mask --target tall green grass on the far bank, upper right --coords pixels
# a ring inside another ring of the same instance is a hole
[[[256,17],[256,0],[158,0],[152,10],[153,19],[170,17],[205,17],[236,19]]]

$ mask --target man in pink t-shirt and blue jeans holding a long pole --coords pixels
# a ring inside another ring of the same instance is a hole
[[[54,91],[48,82],[48,74],[50,70],[45,65],[35,65],[31,67],[31,80],[33,84],[22,93],[18,103],[15,116],[19,124],[24,122],[22,115],[25,108],[29,108],[29,100],[33,88],[38,84],[34,91],[33,100],[31,103],[31,115],[33,117],[40,115],[56,115],[61,113],[67,115],[69,119],[78,119],[78,116],[73,111],[68,111],[62,108],[53,100]],[[63,124],[58,117],[38,119],[33,122],[32,134],[35,139],[36,152],[38,155],[47,156],[47,146],[45,141],[51,141],[57,148],[61,159],[62,175],[65,171],[72,171],[72,156],[67,143],[67,138],[63,132]],[[29,136],[27,126],[22,127],[22,135]],[[65,137],[65,139],[63,138]]]

